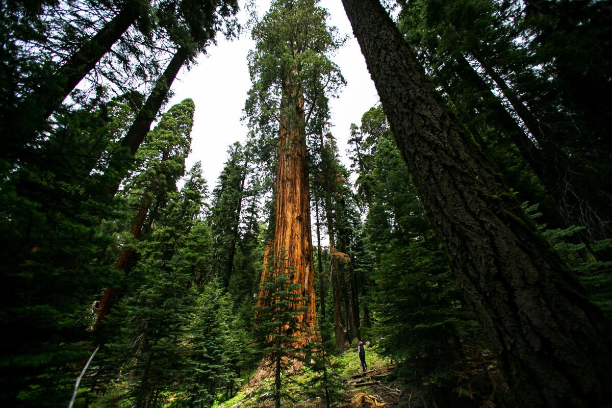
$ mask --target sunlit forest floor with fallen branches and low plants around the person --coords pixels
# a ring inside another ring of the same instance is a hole
[[[376,354],[374,349],[367,352],[368,370],[362,372],[359,355],[350,349],[334,358],[338,363],[340,376],[341,398],[332,404],[337,408],[394,408],[407,406],[411,397],[411,390],[396,379],[393,369],[395,365],[387,358]],[[283,388],[283,408],[319,408],[324,407],[324,401],[318,397],[305,396],[300,387],[307,384],[310,373],[305,370],[296,376],[286,379]],[[234,398],[215,405],[215,408],[268,408],[274,403],[253,388],[243,388]],[[293,400],[293,401],[292,401]],[[401,404],[403,402],[403,404]]]

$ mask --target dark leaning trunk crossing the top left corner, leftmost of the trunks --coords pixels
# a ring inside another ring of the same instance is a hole
[[[58,72],[25,98],[15,109],[19,119],[7,122],[9,131],[3,136],[4,149],[0,149],[1,157],[20,152],[25,144],[34,141],[36,132],[42,130],[51,114],[58,109],[78,83],[94,69],[95,64],[111,50],[114,43],[136,21],[137,17],[138,9],[127,3],[127,6],[118,15],[66,61]]]

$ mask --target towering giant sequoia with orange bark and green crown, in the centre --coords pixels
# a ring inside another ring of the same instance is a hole
[[[295,305],[308,307],[297,317],[302,327],[296,348],[307,344],[316,326],[306,133],[310,119],[327,116],[325,95],[343,81],[327,57],[340,42],[326,26],[326,10],[316,4],[278,0],[256,24],[256,49],[249,56],[253,87],[245,109],[252,125],[278,132],[275,232],[267,259],[288,258],[292,283],[300,284],[306,299]],[[262,282],[278,270],[276,262],[264,270]]]

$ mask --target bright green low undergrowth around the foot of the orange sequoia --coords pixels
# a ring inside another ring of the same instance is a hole
[[[366,362],[368,371],[383,368],[390,364],[389,358],[378,354],[376,347],[368,347],[366,344]],[[357,345],[349,348],[346,352],[331,357],[330,364],[338,363],[341,377],[344,384],[351,379],[351,376],[362,371],[357,354]],[[304,367],[299,374],[294,376],[283,376],[283,393],[286,395],[282,401],[283,408],[315,408],[321,406],[321,402],[316,399],[308,399],[308,392],[305,388],[312,379],[313,371]],[[243,387],[233,398],[228,401],[218,402],[215,408],[263,408],[273,407],[272,401],[266,401],[266,390],[271,384],[263,382],[256,388]]]

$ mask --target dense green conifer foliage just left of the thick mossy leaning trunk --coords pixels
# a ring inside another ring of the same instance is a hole
[[[398,375],[410,380],[417,400],[475,406],[492,387],[479,371],[489,364],[479,354],[482,335],[382,109],[371,108],[351,133],[359,199],[368,209],[364,227],[357,229],[355,265],[371,285],[366,300],[373,321],[366,333],[381,355],[398,363]],[[474,353],[468,361],[466,355]],[[464,382],[472,384],[468,398],[461,394]]]

